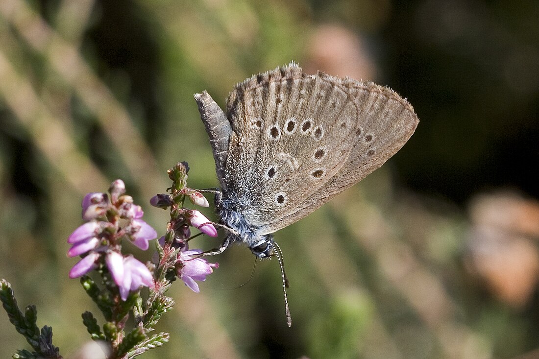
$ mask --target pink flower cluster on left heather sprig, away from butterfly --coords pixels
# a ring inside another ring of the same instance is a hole
[[[72,245],[67,256],[84,258],[71,268],[69,277],[81,277],[104,261],[125,301],[129,292],[141,286],[153,288],[154,280],[145,264],[121,253],[122,239],[127,238],[141,250],[147,250],[148,241],[157,238],[157,232],[141,219],[144,212],[131,196],[125,195],[121,179],[110,185],[109,194],[110,198],[105,193],[92,192],[82,200],[82,218],[89,222],[67,238],[67,243]]]

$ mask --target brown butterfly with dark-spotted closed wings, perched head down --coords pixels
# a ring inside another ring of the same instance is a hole
[[[277,255],[285,284],[273,233],[381,167],[419,122],[388,87],[308,75],[295,63],[234,86],[226,113],[205,91],[195,100],[221,188],[216,209],[229,231],[222,246],[205,254],[243,243],[258,258]]]

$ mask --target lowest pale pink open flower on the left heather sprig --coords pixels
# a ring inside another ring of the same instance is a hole
[[[122,300],[127,300],[129,292],[137,291],[141,286],[154,287],[154,277],[148,267],[133,256],[123,257],[120,253],[109,252],[105,261]]]

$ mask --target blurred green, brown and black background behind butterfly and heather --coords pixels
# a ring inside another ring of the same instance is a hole
[[[278,232],[292,328],[277,261],[250,280],[253,256],[234,247],[200,294],[171,289],[171,342],[142,357],[539,357],[537,19],[531,0],[1,0],[0,277],[68,357],[89,339],[80,314],[97,312],[67,278],[82,196],[122,178],[164,233],[148,199],[168,168],[188,161],[191,187],[217,185],[192,94],[223,106],[236,82],[295,60],[392,87],[416,134]],[[2,358],[27,348],[5,313],[0,342]]]

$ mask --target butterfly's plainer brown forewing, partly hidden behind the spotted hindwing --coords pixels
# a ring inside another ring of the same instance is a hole
[[[319,75],[340,83],[356,103],[355,129],[345,140],[351,147],[350,155],[340,170],[298,205],[293,213],[280,218],[276,216],[266,223],[272,231],[306,217],[381,167],[404,146],[419,123],[410,103],[388,87]]]

